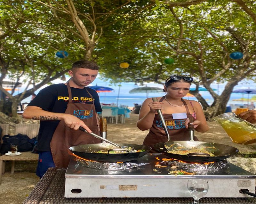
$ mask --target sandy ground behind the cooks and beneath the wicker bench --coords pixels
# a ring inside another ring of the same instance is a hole
[[[142,144],[148,131],[141,131],[136,127],[138,114],[131,114],[124,124],[108,124],[107,138],[113,142]],[[247,171],[256,173],[256,158],[248,157],[248,153],[255,153],[254,145],[239,145],[233,143],[227,133],[217,122],[208,122],[210,130],[207,133],[195,135],[200,141],[216,142],[230,145],[239,149],[239,157],[230,157],[229,162],[244,168]],[[246,158],[245,158],[246,157]],[[35,161],[16,161],[15,172],[11,174],[11,162],[6,163],[5,174],[2,175],[0,185],[0,204],[22,204],[32,189],[36,186],[39,178],[35,175]]]

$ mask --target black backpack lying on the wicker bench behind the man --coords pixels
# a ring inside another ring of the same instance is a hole
[[[1,145],[1,154],[5,154],[8,151],[11,151],[11,144],[18,146],[19,152],[31,151],[34,147],[34,144],[29,142],[30,138],[28,135],[4,135],[3,144]]]

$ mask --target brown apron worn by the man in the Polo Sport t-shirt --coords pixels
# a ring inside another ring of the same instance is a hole
[[[72,103],[72,94],[69,84],[68,88],[68,105],[65,113],[75,115],[92,130],[93,133],[99,135],[97,117],[95,112],[94,100],[92,95],[92,104]],[[101,141],[92,135],[82,132],[81,130],[72,130],[65,126],[64,120],[60,120],[51,140],[52,158],[56,167],[67,168],[70,160],[69,147],[80,144],[94,144]]]

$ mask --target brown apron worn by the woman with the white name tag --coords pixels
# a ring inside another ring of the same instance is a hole
[[[162,102],[163,99],[164,99],[164,97],[162,97],[159,100],[159,102]],[[189,113],[188,105],[185,102],[185,100],[183,100],[183,99],[181,99],[181,100],[183,101],[184,106],[186,108],[187,117],[195,120],[194,116],[192,116],[192,114]],[[172,141],[188,141],[188,140],[190,140],[188,129],[185,127],[186,118],[173,119],[172,114],[164,114],[164,120],[165,120],[165,124],[167,126],[167,129],[168,129],[168,132],[169,132],[169,135],[170,135]],[[198,141],[198,139],[196,137],[194,138],[194,140]],[[152,148],[150,153],[159,153],[158,151],[156,151],[154,149],[154,147],[153,147],[154,144],[159,143],[159,142],[167,142],[167,141],[168,141],[168,138],[164,132],[164,128],[162,126],[159,115],[156,114],[154,121],[153,121],[153,125],[149,129],[149,133],[146,136],[146,138],[144,139],[143,145],[147,145]]]

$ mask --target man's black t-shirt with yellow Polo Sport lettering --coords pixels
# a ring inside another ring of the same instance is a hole
[[[97,92],[91,88],[85,87],[90,92],[93,99],[85,89],[71,88],[72,102],[92,104],[96,112],[101,112],[100,99]],[[37,106],[45,111],[53,113],[65,113],[68,105],[68,88],[65,84],[50,85],[36,95],[36,97],[28,104],[28,106]],[[41,120],[38,133],[38,151],[51,151],[50,142],[52,135],[57,128],[60,120]]]

